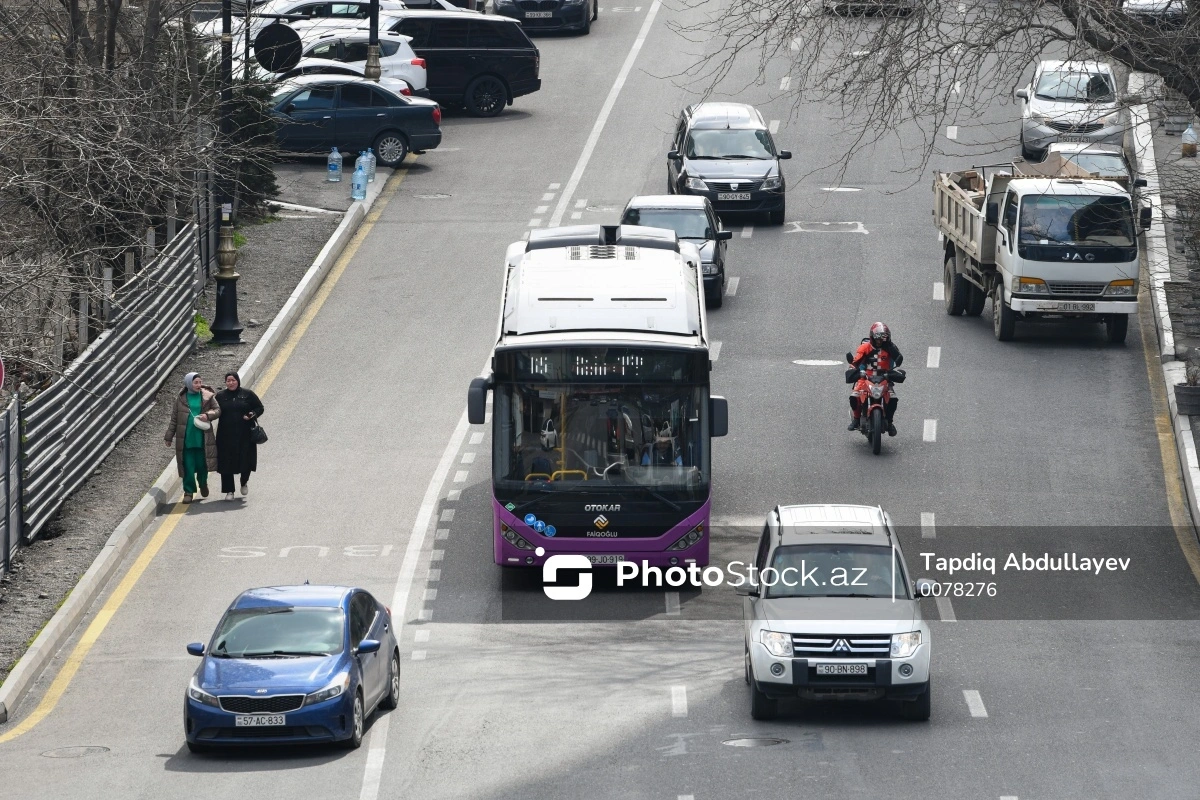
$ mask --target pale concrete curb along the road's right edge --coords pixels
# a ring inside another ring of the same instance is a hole
[[[1147,76],[1134,72],[1129,76],[1129,91],[1141,94]],[[1188,510],[1192,512],[1192,524],[1200,519],[1200,461],[1196,458],[1195,440],[1192,438],[1192,420],[1180,415],[1175,404],[1175,384],[1183,383],[1186,365],[1175,353],[1175,332],[1166,306],[1166,290],[1163,284],[1171,279],[1170,251],[1166,245],[1164,219],[1171,211],[1163,205],[1162,185],[1158,180],[1158,166],[1154,162],[1154,139],[1150,127],[1150,109],[1135,106],[1130,109],[1135,120],[1133,128],[1134,156],[1138,160],[1138,173],[1146,178],[1144,197],[1153,205],[1153,219],[1146,231],[1146,271],[1150,275],[1150,302],[1154,314],[1154,330],[1158,332],[1158,353],[1162,360],[1163,381],[1166,389],[1166,404],[1171,414],[1171,428],[1175,433],[1175,449],[1180,457],[1180,470],[1183,473],[1183,488],[1188,495]]]

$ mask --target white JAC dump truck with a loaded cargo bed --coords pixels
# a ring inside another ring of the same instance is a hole
[[[1016,320],[1093,319],[1124,342],[1138,313],[1138,233],[1128,181],[1072,164],[1018,162],[934,175],[944,241],[946,313],[978,317],[992,300],[996,338]]]

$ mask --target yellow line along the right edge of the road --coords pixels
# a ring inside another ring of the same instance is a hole
[[[1163,380],[1163,363],[1157,348],[1158,331],[1151,319],[1153,306],[1146,290],[1148,281],[1142,279],[1139,291],[1141,313],[1138,323],[1141,326],[1141,349],[1146,354],[1146,373],[1150,377],[1150,397],[1154,408],[1154,428],[1158,434],[1158,453],[1163,459],[1163,482],[1166,485],[1166,509],[1171,515],[1171,528],[1180,542],[1183,558],[1192,569],[1192,576],[1200,583],[1200,546],[1196,545],[1195,528],[1192,524],[1192,512],[1188,509],[1187,493],[1183,491],[1180,452],[1175,446],[1175,428],[1171,426],[1170,405],[1166,403],[1166,381]]]

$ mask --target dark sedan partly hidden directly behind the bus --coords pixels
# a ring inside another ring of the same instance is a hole
[[[721,221],[707,197],[686,194],[647,194],[635,197],[620,215],[623,225],[666,228],[679,239],[700,248],[704,275],[704,301],[709,308],[720,308],[725,299],[725,249],[733,237],[722,230]]]

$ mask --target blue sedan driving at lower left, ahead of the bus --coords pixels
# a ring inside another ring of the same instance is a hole
[[[400,703],[391,612],[362,589],[269,587],[226,610],[192,675],[192,752],[223,745],[362,744],[367,716]]]

